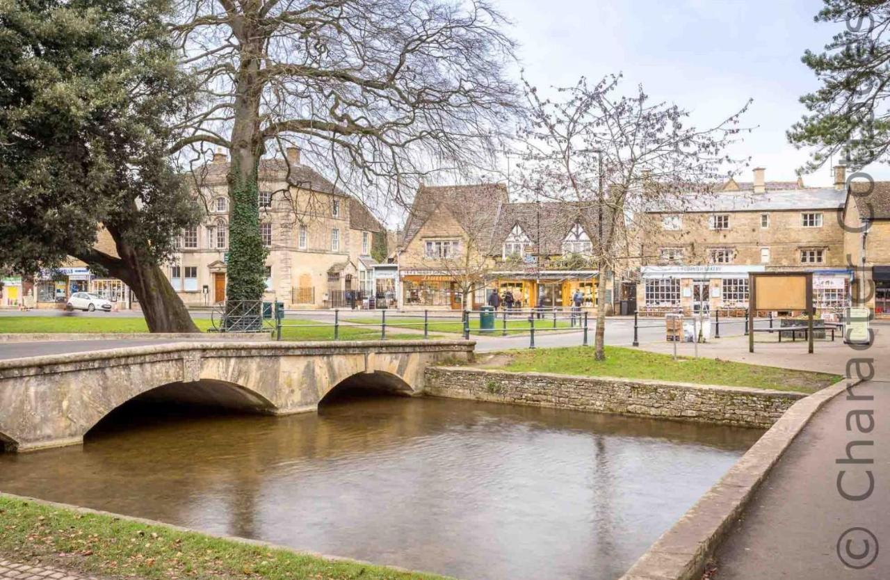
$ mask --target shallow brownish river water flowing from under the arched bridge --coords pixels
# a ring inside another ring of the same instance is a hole
[[[473,579],[611,580],[762,431],[449,399],[125,406],[0,490]]]

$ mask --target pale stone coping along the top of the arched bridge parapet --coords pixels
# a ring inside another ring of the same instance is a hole
[[[107,350],[87,350],[39,357],[7,358],[0,360],[0,371],[22,367],[77,365],[92,361],[147,357],[166,353],[187,353],[201,350],[216,356],[317,356],[326,354],[355,354],[357,352],[433,352],[459,350],[473,352],[475,341],[312,341],[312,342],[166,342]]]

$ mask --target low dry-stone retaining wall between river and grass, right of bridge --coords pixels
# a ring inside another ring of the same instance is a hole
[[[579,411],[768,428],[804,393],[608,377],[428,367],[424,392]]]

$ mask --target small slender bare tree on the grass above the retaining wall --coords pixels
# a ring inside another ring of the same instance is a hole
[[[530,123],[520,132],[525,150],[519,181],[528,194],[577,205],[578,222],[591,239],[597,265],[595,358],[603,360],[606,280],[627,256],[627,227],[652,203],[682,208],[689,193],[708,194],[723,181],[728,145],[738,139],[748,103],[719,124],[686,126],[689,114],[674,104],[652,103],[643,87],[616,93],[620,76],[560,88],[559,101],[543,99],[523,79]]]

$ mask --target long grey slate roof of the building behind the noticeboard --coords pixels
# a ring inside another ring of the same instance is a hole
[[[767,212],[805,209],[837,209],[846,192],[834,188],[780,189],[765,193],[751,190],[722,191],[710,195],[685,195],[676,200],[652,203],[647,213]]]

